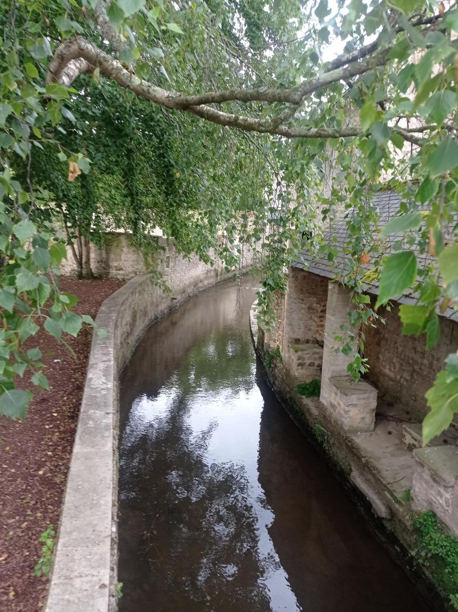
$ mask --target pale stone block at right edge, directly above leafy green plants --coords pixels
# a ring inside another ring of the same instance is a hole
[[[458,535],[458,447],[415,449],[412,499],[419,510],[433,510]]]

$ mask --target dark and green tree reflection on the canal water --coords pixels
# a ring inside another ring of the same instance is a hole
[[[258,550],[245,468],[209,464],[215,424],[198,433],[189,425],[201,390],[238,394],[252,387],[249,335],[215,332],[190,349],[169,384],[174,392],[167,411],[137,423],[129,444],[121,442],[124,602],[138,612],[151,610],[152,602],[156,610],[270,610],[261,581],[275,560]],[[134,558],[135,547],[142,559]]]

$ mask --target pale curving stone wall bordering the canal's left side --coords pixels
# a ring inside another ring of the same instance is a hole
[[[46,612],[116,608],[118,375],[151,321],[230,276],[203,264],[187,265],[181,260],[172,293],[142,274],[100,307],[96,324],[108,335],[92,338]]]

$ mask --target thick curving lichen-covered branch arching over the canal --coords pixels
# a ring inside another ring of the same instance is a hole
[[[54,53],[48,69],[47,83],[59,82],[69,86],[79,75],[84,72],[92,72],[98,68],[101,75],[113,79],[122,88],[130,89],[130,91],[151,100],[151,102],[165,108],[187,111],[219,125],[235,127],[246,132],[269,133],[285,138],[339,138],[361,135],[361,128],[353,125],[340,129],[317,129],[287,127],[281,124],[289,119],[306,97],[317,89],[385,65],[387,56],[388,50],[385,50],[361,62],[318,75],[316,78],[304,81],[301,85],[290,89],[228,89],[201,95],[185,95],[167,91],[167,89],[148,83],[148,81],[140,80],[135,73],[126,70],[117,59],[83,37],[75,36],[62,43]],[[225,113],[209,106],[209,103],[229,101],[268,102],[271,104],[287,102],[293,106],[280,113],[279,117],[268,119]],[[393,128],[392,131],[402,135],[405,140],[414,144],[421,144],[416,136],[405,132],[405,130]],[[421,131],[421,129],[418,131]]]

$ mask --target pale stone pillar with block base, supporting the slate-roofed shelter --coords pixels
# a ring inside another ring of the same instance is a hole
[[[372,431],[377,389],[366,381],[356,383],[347,371],[353,356],[335,351],[339,343],[334,337],[342,334],[340,326],[348,324],[348,310],[351,307],[350,290],[343,285],[329,283],[320,400],[345,431]],[[356,332],[358,329],[355,329]]]

